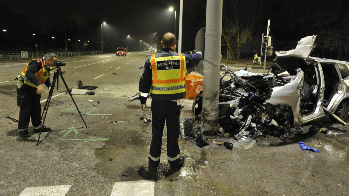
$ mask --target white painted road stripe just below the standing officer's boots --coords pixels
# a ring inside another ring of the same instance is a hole
[[[110,196],[154,195],[155,182],[149,180],[115,182]]]

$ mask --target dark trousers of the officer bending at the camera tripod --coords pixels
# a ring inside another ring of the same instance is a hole
[[[28,129],[31,124],[34,127],[41,125],[41,95],[36,95],[36,91],[22,87],[17,88],[17,105],[20,106],[20,116],[18,118],[18,131]]]

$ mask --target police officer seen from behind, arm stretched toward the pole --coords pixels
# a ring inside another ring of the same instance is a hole
[[[146,100],[151,96],[152,134],[148,165],[156,171],[160,163],[162,134],[167,126],[167,159],[170,167],[178,169],[184,165],[184,158],[179,156],[178,137],[181,101],[186,95],[184,77],[187,70],[197,65],[201,58],[200,51],[195,54],[182,54],[173,51],[176,37],[165,33],[162,38],[162,50],[146,60],[139,81],[139,99],[141,109],[147,107]]]

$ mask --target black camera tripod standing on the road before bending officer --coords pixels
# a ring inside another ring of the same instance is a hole
[[[74,99],[73,99],[72,93],[69,91],[69,88],[68,88],[68,86],[67,86],[67,83],[65,82],[65,80],[64,80],[64,78],[63,78],[63,73],[62,73],[61,67],[58,66],[58,67],[56,68],[55,72],[54,72],[54,75],[53,75],[53,82],[52,82],[52,86],[51,86],[51,89],[50,89],[50,92],[49,92],[49,97],[47,97],[46,104],[45,104],[45,107],[44,107],[44,111],[43,111],[43,113],[42,113],[42,115],[41,115],[41,119],[42,119],[43,123],[42,123],[42,126],[41,126],[41,128],[40,128],[40,133],[39,133],[39,137],[38,137],[38,141],[37,141],[36,145],[39,145],[41,132],[42,132],[42,129],[43,129],[43,127],[44,127],[44,123],[45,123],[45,119],[46,119],[46,114],[47,114],[47,111],[49,110],[50,101],[51,101],[51,97],[52,97],[54,85],[55,85],[56,82],[57,82],[57,90],[58,90],[58,75],[61,76],[62,81],[63,81],[63,83],[64,83],[64,85],[65,85],[65,87],[66,87],[66,89],[67,89],[67,92],[69,93],[70,97],[72,98],[72,100],[73,100],[73,102],[74,102],[74,105],[75,105],[75,107],[76,107],[76,110],[79,112],[79,114],[80,114],[80,116],[81,116],[81,119],[82,119],[82,121],[84,122],[84,124],[85,124],[85,126],[86,126],[86,128],[87,128],[87,125],[86,125],[84,119],[82,118],[81,112],[80,112],[79,108],[77,108],[77,105],[76,105],[76,103],[75,103],[75,101],[74,101]],[[46,106],[47,106],[47,110],[46,110]],[[46,112],[45,112],[45,110],[46,110]],[[44,113],[45,113],[45,115],[44,115]]]

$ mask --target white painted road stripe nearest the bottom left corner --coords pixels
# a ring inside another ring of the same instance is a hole
[[[46,196],[64,196],[72,185],[28,187],[25,188],[19,196],[46,195]]]

